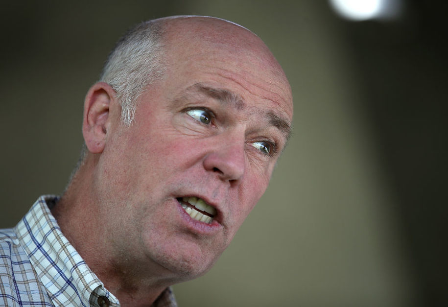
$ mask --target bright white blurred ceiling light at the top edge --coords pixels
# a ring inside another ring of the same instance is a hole
[[[398,15],[399,0],[330,0],[341,17],[353,21],[391,19]]]

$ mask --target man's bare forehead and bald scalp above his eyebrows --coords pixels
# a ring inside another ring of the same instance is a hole
[[[252,32],[220,20],[181,21],[167,31],[166,54],[173,94],[197,83],[212,84],[211,88],[226,89],[246,105],[272,109],[291,120],[289,83],[272,53]]]

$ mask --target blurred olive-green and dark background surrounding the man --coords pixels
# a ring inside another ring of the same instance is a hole
[[[64,189],[84,95],[119,36],[210,15],[271,48],[294,135],[216,266],[174,286],[180,306],[443,306],[447,2],[386,2],[347,19],[326,0],[1,1],[0,227]]]

